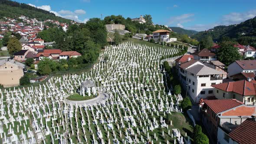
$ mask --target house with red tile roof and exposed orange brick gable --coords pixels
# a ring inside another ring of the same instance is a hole
[[[247,118],[256,115],[255,105],[244,105],[236,99],[201,99],[200,108],[203,125],[213,143],[219,142],[218,144],[224,144],[219,141],[219,135],[226,137],[220,130],[229,133]]]

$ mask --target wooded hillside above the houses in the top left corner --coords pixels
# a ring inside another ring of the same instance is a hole
[[[17,18],[19,16],[27,16],[29,18],[36,18],[39,21],[44,20],[58,20],[60,23],[70,23],[71,20],[55,16],[49,11],[32,7],[25,3],[18,3],[11,0],[0,0],[0,19],[2,17]]]

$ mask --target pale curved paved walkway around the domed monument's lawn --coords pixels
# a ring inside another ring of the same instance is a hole
[[[85,101],[71,101],[65,98],[65,102],[69,105],[96,105],[98,103],[102,103],[108,99],[108,94],[104,92],[98,92],[98,96],[96,98],[92,98]]]

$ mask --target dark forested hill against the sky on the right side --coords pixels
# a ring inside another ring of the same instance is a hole
[[[256,17],[237,25],[215,26],[213,29],[195,34],[192,38],[201,41],[205,36],[211,36],[214,42],[229,37],[242,45],[256,46]]]

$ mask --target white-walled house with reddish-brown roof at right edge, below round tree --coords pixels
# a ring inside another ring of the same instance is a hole
[[[256,74],[256,60],[236,60],[228,66],[227,71],[229,72],[229,77],[240,72],[253,72]]]

